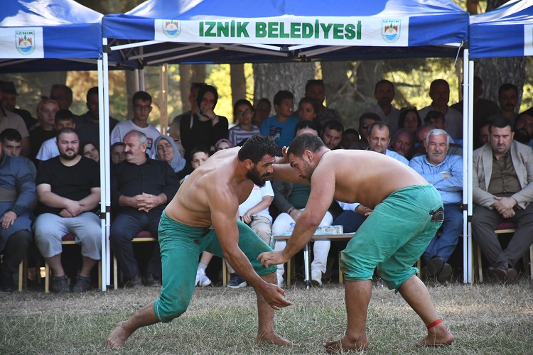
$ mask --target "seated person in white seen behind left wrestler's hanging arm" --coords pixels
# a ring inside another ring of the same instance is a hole
[[[248,224],[252,231],[254,231],[259,238],[266,244],[271,246],[272,234],[272,217],[269,213],[269,207],[274,197],[274,191],[270,181],[266,181],[264,187],[254,185],[254,189],[250,192],[246,201],[239,204],[239,212],[237,219]],[[246,280],[240,277],[235,270],[227,264],[227,270],[230,271],[230,282],[227,283],[229,288],[245,288],[247,286]]]

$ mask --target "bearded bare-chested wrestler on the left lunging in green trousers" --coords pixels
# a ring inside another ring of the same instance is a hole
[[[196,278],[198,256],[207,250],[226,258],[257,294],[257,342],[290,345],[274,332],[274,310],[291,305],[276,285],[276,266],[265,268],[257,256],[271,251],[246,224],[237,221],[239,204],[255,185],[263,186],[272,172],[276,143],[252,136],[242,148],[212,155],[183,182],[159,222],[163,287],[159,298],[120,322],[107,338],[118,348],[139,327],[171,322],[189,305]]]

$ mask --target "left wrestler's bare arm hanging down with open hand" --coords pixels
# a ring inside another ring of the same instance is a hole
[[[224,258],[235,269],[235,272],[261,293],[269,305],[278,310],[280,307],[291,305],[283,297],[284,291],[277,285],[266,283],[254,271],[252,263],[247,256],[239,249],[239,229],[237,228],[237,207],[239,201],[237,197],[227,190],[212,189],[209,193],[209,208],[211,211],[211,222],[218,237],[218,242]],[[235,207],[234,207],[235,206]]]

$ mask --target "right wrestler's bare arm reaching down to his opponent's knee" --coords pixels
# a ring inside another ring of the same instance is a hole
[[[285,249],[262,253],[259,258],[264,266],[285,263],[313,238],[313,234],[321,224],[325,212],[328,212],[335,194],[335,173],[332,169],[320,167],[315,170],[313,178],[311,178],[311,194],[306,209],[296,221],[294,231],[287,241]]]

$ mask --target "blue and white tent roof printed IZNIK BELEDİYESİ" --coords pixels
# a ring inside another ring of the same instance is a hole
[[[247,36],[224,35],[232,20],[248,23]],[[160,29],[171,21],[178,28],[173,37]],[[207,21],[221,23],[211,35],[205,32]],[[392,28],[391,21],[397,37],[387,40],[384,28]],[[262,23],[268,31],[274,23],[273,35],[259,38]],[[311,28],[311,38],[303,38],[303,23],[310,24],[305,26]],[[362,35],[347,40],[349,26],[357,23]],[[314,30],[322,24],[337,24],[343,39],[333,38],[333,30],[329,37],[324,28]],[[365,6],[350,0],[148,0],[127,13],[104,16],[102,31],[124,61],[141,65],[446,57],[456,56],[458,43],[467,39],[468,13],[449,0],[374,0]]]

